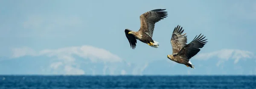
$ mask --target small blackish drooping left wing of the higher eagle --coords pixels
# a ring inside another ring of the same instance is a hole
[[[132,34],[128,34],[131,30],[125,29],[125,36],[128,39],[132,49],[136,47],[137,40]]]

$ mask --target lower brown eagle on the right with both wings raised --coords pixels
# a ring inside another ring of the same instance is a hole
[[[196,35],[192,42],[186,44],[187,36],[183,31],[184,29],[182,30],[179,25],[174,28],[171,38],[172,55],[167,55],[167,58],[179,64],[184,64],[186,67],[195,68],[189,59],[200,51],[199,48],[204,47],[207,39],[204,39],[206,36],[200,34],[199,36]]]

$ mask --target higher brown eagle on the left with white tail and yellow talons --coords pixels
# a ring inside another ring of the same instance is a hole
[[[158,48],[158,42],[154,41],[152,36],[155,23],[167,17],[167,12],[164,10],[166,9],[154,9],[141,14],[140,30],[137,32],[125,29],[125,36],[132,49],[136,47],[137,39],[151,47]]]

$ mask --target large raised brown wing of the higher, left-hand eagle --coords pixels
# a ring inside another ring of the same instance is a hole
[[[144,32],[148,34],[148,36],[152,37],[155,23],[167,17],[167,12],[164,10],[166,9],[154,9],[141,14],[139,31]]]

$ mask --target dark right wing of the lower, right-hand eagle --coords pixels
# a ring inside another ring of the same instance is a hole
[[[207,43],[205,42],[207,39],[204,39],[205,36],[203,36],[201,36],[201,34],[198,37],[195,36],[192,42],[184,46],[177,55],[186,58],[187,60],[195,56],[200,51],[199,48],[204,47],[204,45]]]

